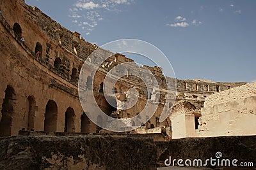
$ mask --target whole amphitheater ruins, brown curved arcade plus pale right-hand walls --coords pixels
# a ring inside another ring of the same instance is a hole
[[[17,135],[21,130],[38,134],[102,132],[86,117],[89,109],[83,110],[77,91],[83,62],[99,46],[87,42],[78,32],[68,31],[24,0],[1,0],[0,9],[0,136]],[[111,67],[124,62],[134,61],[113,53],[94,80],[86,78],[85,88],[93,89],[100,109],[116,118],[134,117],[145,102],[159,99],[154,116],[131,133],[154,134],[166,129],[173,139],[256,134],[255,83],[176,80],[176,101],[169,103],[172,113],[159,122],[166,101],[165,78],[161,67],[141,66],[141,74],[144,67],[152,71],[160,90],[147,89],[138,77],[124,76],[113,89],[118,96],[113,98],[116,106],[109,105],[102,92],[103,80]],[[125,100],[131,87],[136,87],[140,99],[125,110],[115,100]],[[104,121],[97,117],[97,123]]]

